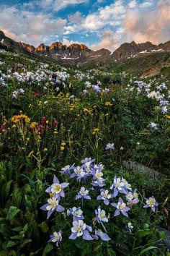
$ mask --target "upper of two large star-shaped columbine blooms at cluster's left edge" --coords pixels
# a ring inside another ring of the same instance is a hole
[[[45,192],[53,193],[58,200],[61,200],[61,197],[64,197],[63,189],[68,186],[69,183],[63,182],[60,184],[58,178],[54,175],[53,184],[45,190]]]

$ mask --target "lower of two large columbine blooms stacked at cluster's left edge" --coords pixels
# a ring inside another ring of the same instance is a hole
[[[48,203],[42,205],[41,210],[48,210],[48,218],[56,210],[58,213],[62,213],[64,208],[61,205],[58,205],[58,199],[56,197],[51,197],[48,199]]]

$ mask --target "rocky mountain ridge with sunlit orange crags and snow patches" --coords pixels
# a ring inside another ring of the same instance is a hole
[[[141,54],[153,53],[156,51],[170,51],[170,40],[158,45],[151,42],[146,43],[122,43],[113,53],[108,49],[102,48],[97,51],[93,51],[83,43],[71,43],[66,46],[63,43],[56,41],[51,43],[50,46],[46,46],[41,43],[40,46],[32,46],[27,43],[16,42],[11,38],[4,35],[3,31],[0,31],[0,45],[11,47],[17,53],[21,54],[35,54],[36,56],[48,57],[60,64],[71,65],[83,65],[87,62],[99,63],[101,61],[122,61],[124,59],[134,58]]]

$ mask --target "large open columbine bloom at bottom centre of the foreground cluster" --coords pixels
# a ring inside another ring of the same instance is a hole
[[[84,240],[93,240],[91,234],[89,234],[89,231],[92,231],[91,226],[86,225],[84,221],[73,221],[73,227],[71,228],[71,236],[69,236],[69,239],[75,240],[77,237],[82,236]]]

